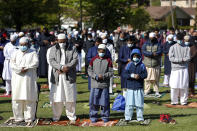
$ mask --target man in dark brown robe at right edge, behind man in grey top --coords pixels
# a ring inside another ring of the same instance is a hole
[[[193,32],[192,35],[196,35],[196,32]],[[185,36],[185,46],[190,48],[191,60],[189,61],[188,72],[189,72],[189,96],[195,96],[195,74],[196,74],[196,64],[197,64],[197,45],[195,43],[195,37],[193,39],[190,36]]]

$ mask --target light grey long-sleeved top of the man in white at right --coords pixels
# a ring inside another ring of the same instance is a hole
[[[172,71],[188,68],[190,61],[190,48],[178,43],[170,47],[169,59],[172,65]]]

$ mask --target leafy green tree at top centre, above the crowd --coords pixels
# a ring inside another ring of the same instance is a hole
[[[93,23],[93,28],[113,30],[117,26],[129,24],[131,4],[134,0],[85,0],[85,16]]]

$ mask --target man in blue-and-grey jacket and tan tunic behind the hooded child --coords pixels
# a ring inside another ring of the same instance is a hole
[[[144,64],[148,72],[148,76],[145,79],[144,93],[148,95],[148,93],[150,93],[151,84],[153,84],[155,95],[160,96],[159,79],[162,48],[154,32],[149,34],[149,40],[142,46],[142,52],[144,54]]]

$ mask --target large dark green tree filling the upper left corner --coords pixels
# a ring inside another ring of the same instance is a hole
[[[55,21],[52,18],[58,12],[57,7],[58,0],[1,0],[0,23],[4,27],[15,27],[17,31],[25,25],[51,24]]]

